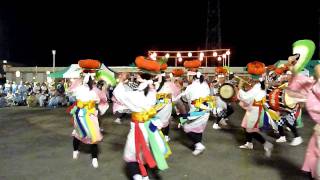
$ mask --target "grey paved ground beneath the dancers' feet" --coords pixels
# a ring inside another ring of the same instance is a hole
[[[268,159],[257,142],[253,151],[238,148],[244,142],[240,128],[243,113],[236,109],[227,130],[213,130],[210,121],[203,140],[207,149],[198,157],[191,154],[186,147],[190,142],[173,123],[170,142],[173,155],[168,159],[170,169],[159,173],[162,179],[308,179],[300,171],[313,127],[308,115],[303,115],[305,126],[299,129],[305,142],[298,147],[277,144]],[[72,127],[64,108],[0,109],[0,180],[127,179],[122,152],[129,121],[117,125],[113,119],[110,113],[103,117],[106,135],[99,145],[100,167],[94,169],[90,155],[85,152],[78,160],[72,160]],[[264,135],[274,142],[272,134]],[[290,133],[288,136],[292,137]]]

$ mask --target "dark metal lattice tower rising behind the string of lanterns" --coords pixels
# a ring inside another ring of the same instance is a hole
[[[206,49],[221,48],[220,0],[208,0]]]

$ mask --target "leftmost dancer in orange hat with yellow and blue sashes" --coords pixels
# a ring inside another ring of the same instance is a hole
[[[90,145],[92,166],[98,168],[98,143],[102,140],[98,122],[98,108],[101,113],[106,111],[108,106],[106,95],[94,86],[95,71],[100,68],[101,63],[97,60],[80,60],[79,66],[83,68],[83,82],[74,81],[69,88],[76,97],[76,103],[70,107],[70,114],[73,116],[73,159],[78,159],[80,143]]]

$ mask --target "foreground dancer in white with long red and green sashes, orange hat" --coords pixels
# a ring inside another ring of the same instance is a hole
[[[154,63],[155,61],[147,60],[141,56],[136,58],[137,67],[159,72],[160,65]],[[154,66],[156,69],[153,68]],[[160,131],[163,123],[156,117],[157,92],[151,75],[144,73],[138,77],[137,80],[140,84],[137,90],[126,89],[123,84],[126,79],[120,79],[118,90],[113,94],[118,101],[132,111],[131,128],[124,149],[124,160],[129,175],[134,180],[146,180],[148,174],[144,165],[147,164],[150,168],[158,168],[159,170],[167,169],[166,158],[171,154],[171,150]]]

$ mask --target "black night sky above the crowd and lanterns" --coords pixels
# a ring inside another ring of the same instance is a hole
[[[204,49],[207,1],[174,2],[2,4],[0,59],[52,66],[56,49],[57,66],[84,58],[110,66],[128,65],[149,49]],[[221,0],[222,47],[231,48],[231,65],[286,59],[303,38],[318,48],[316,3],[303,2]]]

